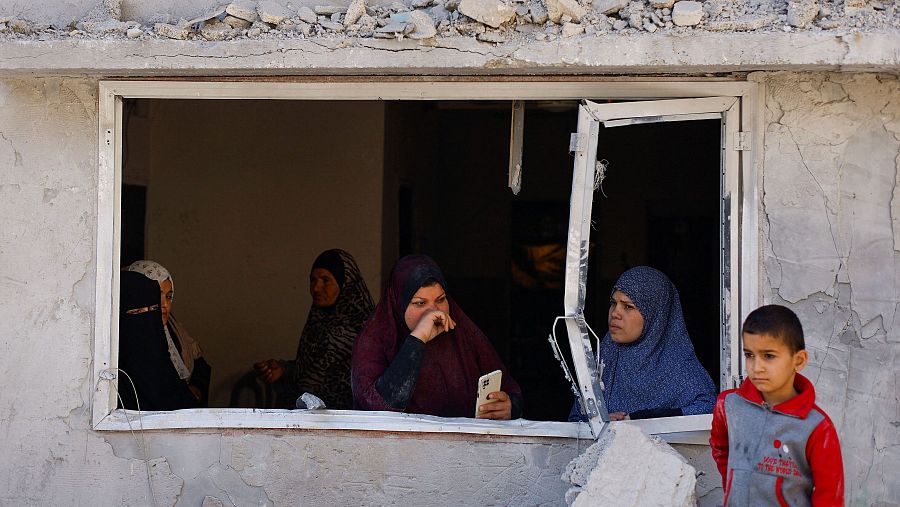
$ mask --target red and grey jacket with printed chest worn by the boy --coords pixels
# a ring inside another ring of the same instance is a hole
[[[725,505],[844,505],[837,431],[798,374],[790,400],[770,407],[747,379],[719,394],[709,445]]]

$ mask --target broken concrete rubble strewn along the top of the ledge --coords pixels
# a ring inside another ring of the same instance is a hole
[[[295,11],[283,0],[232,0],[190,21],[163,19],[142,26],[122,19],[122,0],[98,0],[88,15],[64,30],[0,12],[0,39],[409,36],[471,37],[497,44],[610,33],[831,30],[843,35],[900,30],[900,6],[888,0],[382,0],[371,6],[366,0],[344,1],[349,5],[300,6]]]

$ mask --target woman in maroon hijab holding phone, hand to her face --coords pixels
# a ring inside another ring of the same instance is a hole
[[[357,408],[471,417],[478,378],[501,370],[500,391],[489,395],[497,401],[482,405],[477,417],[521,417],[519,385],[446,287],[431,258],[410,255],[397,261],[353,348]]]

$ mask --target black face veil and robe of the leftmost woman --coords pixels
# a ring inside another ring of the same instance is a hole
[[[121,282],[119,369],[127,375],[118,374],[120,406],[137,409],[140,402],[141,410],[196,407],[197,401],[169,358],[159,283],[132,271],[123,271]]]

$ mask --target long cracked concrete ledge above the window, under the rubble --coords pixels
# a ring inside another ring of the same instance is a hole
[[[900,71],[900,31],[605,35],[491,45],[379,39],[0,41],[0,73],[109,76],[701,74]]]

